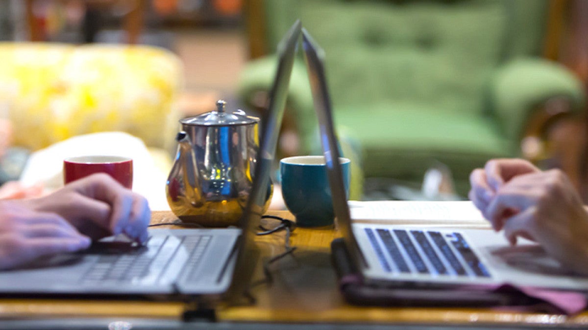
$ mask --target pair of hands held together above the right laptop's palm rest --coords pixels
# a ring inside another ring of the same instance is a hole
[[[470,176],[469,197],[511,244],[540,243],[567,268],[588,275],[588,212],[567,176],[527,161],[497,159]]]

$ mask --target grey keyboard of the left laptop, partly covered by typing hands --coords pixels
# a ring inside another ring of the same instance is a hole
[[[177,277],[182,269],[192,278],[198,274],[194,270],[202,260],[210,241],[210,235],[155,236],[149,240],[146,248],[125,254],[101,255],[82,277],[81,282],[95,285],[149,285],[161,281],[169,282],[171,278]],[[188,255],[174,258],[180,251],[180,246]]]

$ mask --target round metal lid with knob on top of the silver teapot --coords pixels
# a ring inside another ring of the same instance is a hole
[[[259,122],[256,117],[248,116],[243,110],[235,112],[225,112],[226,102],[223,100],[216,101],[216,111],[203,113],[196,117],[189,117],[180,120],[182,124],[197,126],[231,126],[231,125],[248,125]]]

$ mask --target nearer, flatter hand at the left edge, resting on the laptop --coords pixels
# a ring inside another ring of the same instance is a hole
[[[89,237],[55,213],[31,211],[13,201],[0,202],[0,270],[89,245]]]

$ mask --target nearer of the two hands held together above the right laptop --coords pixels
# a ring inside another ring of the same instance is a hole
[[[505,210],[516,212],[499,221]],[[564,267],[588,275],[588,212],[562,171],[513,177],[498,188],[486,214],[510,244],[517,237],[536,241]]]

